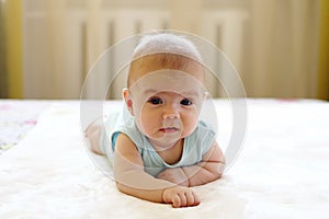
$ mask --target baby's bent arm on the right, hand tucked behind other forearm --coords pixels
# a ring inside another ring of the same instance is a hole
[[[158,178],[172,183],[184,182],[186,186],[197,186],[219,178],[224,169],[224,154],[217,142],[214,142],[201,162],[190,166],[167,169],[158,175]]]

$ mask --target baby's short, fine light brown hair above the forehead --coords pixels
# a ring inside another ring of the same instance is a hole
[[[132,72],[147,68],[150,62],[161,68],[186,70],[192,65],[202,66],[202,58],[194,44],[184,36],[170,33],[144,35],[133,53],[128,87]]]

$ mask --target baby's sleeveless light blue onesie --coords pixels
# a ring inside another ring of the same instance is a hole
[[[102,151],[107,155],[111,164],[113,164],[116,137],[120,132],[124,132],[132,139],[141,154],[145,171],[155,177],[164,169],[188,166],[200,162],[216,138],[213,128],[204,122],[198,122],[196,129],[184,139],[181,160],[171,165],[163,161],[152,148],[147,137],[138,130],[134,117],[129,113],[125,113],[124,115],[120,113],[109,116],[105,123],[105,135],[102,135]]]

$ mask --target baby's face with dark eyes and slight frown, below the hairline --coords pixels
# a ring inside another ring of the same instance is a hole
[[[164,150],[194,131],[205,93],[201,79],[191,73],[173,69],[146,73],[129,89],[138,129]]]

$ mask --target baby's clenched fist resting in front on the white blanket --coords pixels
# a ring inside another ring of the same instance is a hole
[[[162,200],[171,204],[174,208],[192,207],[200,204],[200,199],[192,189],[183,186],[166,188],[162,193]]]

